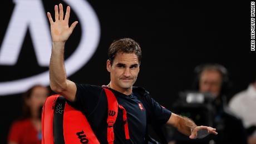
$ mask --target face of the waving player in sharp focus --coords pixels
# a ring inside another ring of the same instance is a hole
[[[137,80],[139,66],[139,60],[135,53],[117,53],[112,66],[110,60],[107,60],[111,85],[122,90],[131,88]]]

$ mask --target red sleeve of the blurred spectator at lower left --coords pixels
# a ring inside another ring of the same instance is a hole
[[[13,122],[8,134],[8,142],[19,142],[22,128],[18,122]]]

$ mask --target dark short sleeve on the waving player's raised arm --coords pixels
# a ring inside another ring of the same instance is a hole
[[[99,97],[103,88],[99,86],[78,84],[76,83],[76,98],[74,102],[69,102],[72,107],[82,111],[86,116],[89,116],[99,103]]]

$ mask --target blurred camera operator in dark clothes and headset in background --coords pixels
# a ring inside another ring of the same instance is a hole
[[[228,71],[224,66],[217,63],[200,64],[194,69],[196,74],[193,89],[200,93],[209,93],[213,97],[214,120],[218,135],[209,138],[208,142],[216,144],[247,143],[246,133],[242,121],[228,110],[226,95],[230,89]],[[171,133],[171,132],[169,132]],[[175,134],[170,135],[170,142],[175,143]],[[183,143],[176,141],[177,144]],[[189,143],[189,142],[185,142]],[[193,142],[191,142],[193,143]]]

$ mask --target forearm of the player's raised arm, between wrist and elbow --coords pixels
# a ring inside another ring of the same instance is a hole
[[[53,42],[50,60],[50,86],[53,91],[61,92],[67,87],[64,65],[65,42]]]

